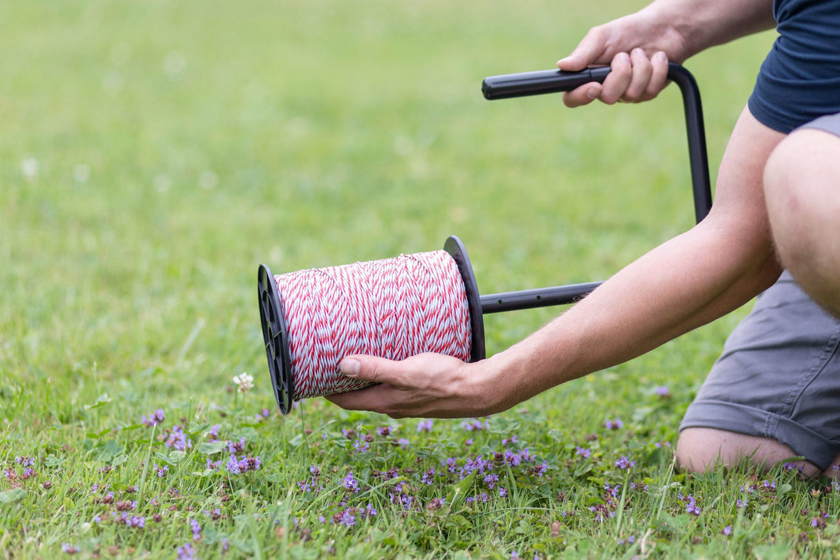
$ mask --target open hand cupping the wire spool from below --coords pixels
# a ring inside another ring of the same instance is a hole
[[[375,411],[393,418],[422,416],[470,418],[505,410],[494,399],[495,376],[487,360],[466,364],[436,353],[423,353],[402,361],[375,356],[348,356],[342,372],[353,379],[379,385],[329,395],[328,400],[349,410]]]

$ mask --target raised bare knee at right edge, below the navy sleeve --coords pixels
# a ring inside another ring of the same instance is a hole
[[[790,133],[764,168],[764,196],[782,264],[840,317],[840,137]]]

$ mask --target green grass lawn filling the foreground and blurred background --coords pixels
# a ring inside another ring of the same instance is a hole
[[[263,558],[832,557],[831,487],[672,468],[667,444],[744,311],[480,431],[436,421],[417,432],[417,421],[321,399],[276,412],[260,263],[279,273],[383,259],[454,233],[491,293],[604,279],[690,228],[675,87],[641,106],[575,111],[558,97],[480,95],[484,76],[550,68],[591,25],[632,8],[0,4],[3,556],[65,555],[65,543],[80,557],[176,557],[191,543],[202,558],[223,547]],[[686,64],[713,175],[771,40]],[[487,317],[489,351],[558,312]],[[243,371],[255,388],[239,395]],[[165,421],[145,427],[159,407]],[[217,425],[220,442],[244,437],[260,469],[207,468],[229,457],[209,434]],[[191,447],[167,446],[181,430]],[[468,459],[524,447],[535,459],[497,460],[498,482],[460,479]],[[633,468],[616,467],[622,456]],[[349,473],[358,493],[343,485]]]

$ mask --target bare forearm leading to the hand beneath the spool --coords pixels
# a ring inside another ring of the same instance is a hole
[[[531,337],[497,354],[515,400],[621,364],[742,306],[780,274],[772,247],[703,231],[664,243]]]

